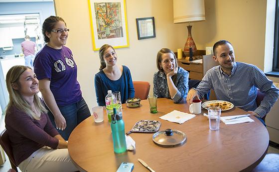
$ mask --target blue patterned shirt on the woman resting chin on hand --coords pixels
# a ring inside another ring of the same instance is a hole
[[[189,78],[189,72],[187,72],[181,67],[178,67],[176,79],[174,81],[174,85],[177,88],[177,92],[172,98],[174,103],[179,103],[187,96],[188,89],[189,89],[188,78]],[[157,96],[158,98],[171,98],[167,86],[166,75],[164,72],[158,71],[154,74],[153,86],[154,86],[153,87],[154,96]]]

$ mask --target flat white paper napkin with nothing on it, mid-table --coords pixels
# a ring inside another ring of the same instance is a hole
[[[163,115],[159,118],[162,119],[162,120],[167,120],[167,121],[170,121],[170,122],[182,124],[185,121],[188,121],[188,120],[194,118],[195,116],[196,115],[174,110],[174,111],[172,111],[168,114],[165,114],[165,115]]]

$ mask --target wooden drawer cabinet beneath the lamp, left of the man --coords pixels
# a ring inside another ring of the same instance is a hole
[[[177,60],[177,62],[178,66],[182,67],[183,69],[189,72],[189,79],[202,80],[203,76],[209,69],[219,65],[213,60],[212,56],[212,54],[203,55],[202,63],[195,63],[193,61],[185,59]]]

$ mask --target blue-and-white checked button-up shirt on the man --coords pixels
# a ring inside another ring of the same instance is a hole
[[[230,76],[220,66],[208,70],[196,90],[201,97],[211,88],[218,100],[229,101],[246,111],[255,111],[261,118],[271,110],[279,96],[279,89],[262,70],[241,62],[235,63]],[[258,88],[266,94],[259,107],[256,103]]]

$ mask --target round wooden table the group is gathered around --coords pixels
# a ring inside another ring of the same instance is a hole
[[[139,162],[143,160],[156,172],[250,172],[264,158],[269,145],[266,127],[254,116],[255,122],[225,125],[220,123],[219,131],[209,130],[208,119],[196,115],[183,124],[159,119],[173,110],[189,113],[187,104],[174,104],[172,100],[160,98],[158,113],[149,112],[147,100],[139,108],[123,105],[125,132],[139,120],[157,120],[161,130],[167,128],[182,131],[187,142],[174,148],[163,148],[152,141],[153,134],[132,133],[136,151],[115,154],[110,124],[104,112],[105,121],[95,123],[93,116],[79,124],[68,142],[69,154],[81,171],[116,172],[122,162],[134,163],[134,172],[148,172]],[[239,108],[223,111],[221,116],[247,114]]]

